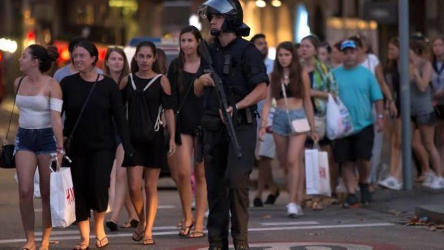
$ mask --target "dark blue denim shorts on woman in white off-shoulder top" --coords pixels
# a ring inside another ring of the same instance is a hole
[[[36,155],[57,152],[57,143],[55,142],[52,128],[19,128],[16,136],[15,151],[30,151]]]

